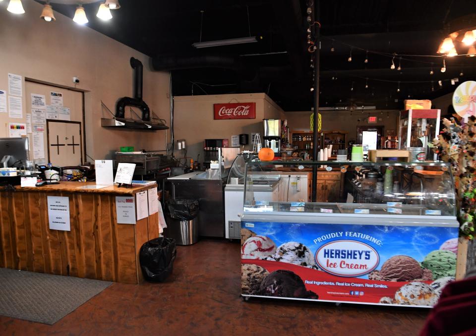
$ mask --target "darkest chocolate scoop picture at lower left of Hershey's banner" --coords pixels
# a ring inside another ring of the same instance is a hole
[[[312,291],[306,290],[304,282],[297,274],[287,270],[277,270],[270,273],[261,282],[259,292],[264,296],[294,297],[301,299],[317,299]]]

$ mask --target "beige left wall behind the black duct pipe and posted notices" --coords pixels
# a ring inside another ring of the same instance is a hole
[[[8,89],[9,72],[66,87],[73,87],[72,77],[77,76],[80,83],[76,88],[86,91],[86,150],[90,157],[109,158],[120,146],[165,149],[165,131],[108,129],[101,127],[100,119],[111,117],[101,111],[101,101],[114,112],[119,98],[133,95],[133,69],[129,64],[133,56],[144,64],[144,101],[170,124],[168,73],[151,71],[149,57],[79,26],[58,12],[55,22],[41,20],[40,3],[23,1],[23,15],[9,13],[7,5],[8,1],[0,2],[0,89]],[[23,115],[26,111],[23,94]],[[7,113],[0,113],[0,121],[2,126],[7,122],[25,122],[10,119]],[[7,136],[4,130],[0,127],[0,137]]]

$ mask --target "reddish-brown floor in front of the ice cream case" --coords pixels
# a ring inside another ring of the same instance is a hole
[[[428,310],[239,297],[239,244],[178,247],[164,283],[115,283],[54,326],[0,317],[0,335],[416,335]]]

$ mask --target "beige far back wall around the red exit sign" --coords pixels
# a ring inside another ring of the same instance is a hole
[[[310,127],[309,117],[312,112],[285,112],[288,125],[291,131],[308,131]],[[365,112],[349,111],[323,111],[322,130],[323,131],[345,131],[348,132],[347,141],[355,140],[357,137],[357,126],[384,126],[384,131],[395,130],[397,132],[397,122],[399,111],[376,110]],[[368,116],[376,116],[377,123],[369,124]]]

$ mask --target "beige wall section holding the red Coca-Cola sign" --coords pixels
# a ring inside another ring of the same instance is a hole
[[[213,104],[256,103],[255,119],[214,120]],[[284,118],[284,112],[264,93],[174,97],[174,138],[187,141],[187,156],[203,162],[205,139],[229,139],[232,135],[263,133],[262,119]],[[249,147],[249,146],[248,146]],[[247,147],[247,148],[248,148]],[[183,153],[174,152],[176,156]]]

